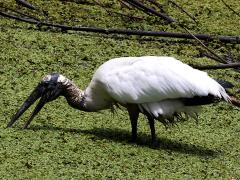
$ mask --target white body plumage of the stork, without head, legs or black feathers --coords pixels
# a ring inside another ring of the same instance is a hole
[[[101,65],[87,87],[86,106],[108,108],[111,101],[137,104],[154,117],[197,112],[179,98],[211,94],[228,101],[225,89],[207,73],[173,57],[122,57]],[[97,100],[95,98],[98,98]]]

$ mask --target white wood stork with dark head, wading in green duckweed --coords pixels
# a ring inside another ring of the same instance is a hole
[[[201,105],[220,100],[236,106],[240,104],[207,73],[173,57],[122,57],[102,64],[84,91],[61,74],[45,76],[7,127],[41,98],[24,125],[27,128],[44,104],[59,96],[64,96],[73,108],[87,112],[111,109],[115,104],[126,107],[131,120],[132,141],[137,138],[139,113],[143,113],[149,121],[153,143],[156,140],[155,119],[164,124],[174,123],[184,114],[194,117]]]

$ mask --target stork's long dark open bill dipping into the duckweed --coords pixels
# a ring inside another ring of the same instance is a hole
[[[9,123],[7,124],[7,127],[12,127],[12,125],[18,120],[18,118],[43,94],[43,88],[38,85],[33,92],[30,94],[30,96],[26,99],[26,101],[23,103],[21,108],[17,111],[17,113],[11,118]],[[45,98],[41,98],[38,105],[34,109],[34,111],[31,114],[30,119],[25,123],[24,128],[27,128],[27,126],[30,124],[32,119],[35,115],[41,110],[41,108],[44,106],[45,101],[43,100]]]

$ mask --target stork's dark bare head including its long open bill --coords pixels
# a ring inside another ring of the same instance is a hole
[[[7,127],[11,127],[18,118],[39,98],[39,102],[35,109],[33,110],[30,118],[25,123],[24,128],[27,128],[31,123],[33,118],[42,109],[42,107],[50,101],[57,99],[59,96],[63,95],[64,87],[68,83],[68,79],[63,75],[54,73],[43,77],[42,81],[37,85],[37,87],[32,91],[30,96],[26,99],[17,113],[12,117],[11,121],[8,123]]]

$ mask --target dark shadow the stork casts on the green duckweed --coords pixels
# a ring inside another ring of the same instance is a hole
[[[31,130],[48,130],[48,131],[63,131],[65,133],[77,133],[77,134],[90,134],[94,137],[92,140],[97,139],[107,139],[110,141],[119,142],[122,144],[131,144],[128,140],[131,137],[131,132],[119,128],[110,129],[110,128],[93,128],[90,130],[81,130],[75,128],[62,128],[62,127],[54,127],[54,126],[31,126]],[[138,135],[138,139],[136,144],[143,147],[149,147],[156,150],[166,150],[173,151],[183,154],[189,154],[193,156],[201,156],[201,157],[216,157],[222,152],[211,150],[202,146],[187,144],[176,140],[171,140],[167,138],[157,138],[158,144],[156,146],[151,145],[151,138],[149,135],[144,133]]]

